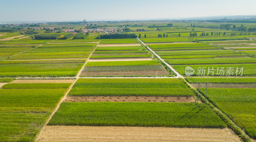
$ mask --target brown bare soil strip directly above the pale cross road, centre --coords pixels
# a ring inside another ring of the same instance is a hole
[[[96,75],[169,75],[166,70],[147,70],[147,71],[120,71],[120,72],[82,72],[80,76],[96,76]]]

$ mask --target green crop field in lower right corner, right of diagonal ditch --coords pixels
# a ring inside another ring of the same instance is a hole
[[[255,88],[208,88],[207,97],[251,138],[256,138]]]

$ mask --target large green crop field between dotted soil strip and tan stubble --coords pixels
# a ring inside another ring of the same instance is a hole
[[[64,102],[49,125],[226,127],[209,107],[196,107],[193,103],[139,102]]]

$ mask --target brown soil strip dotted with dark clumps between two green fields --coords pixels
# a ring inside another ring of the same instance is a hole
[[[192,96],[67,96],[65,102],[175,102],[194,103]]]

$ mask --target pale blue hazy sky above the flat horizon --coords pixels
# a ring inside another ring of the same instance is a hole
[[[0,0],[0,22],[256,15],[256,0]]]

